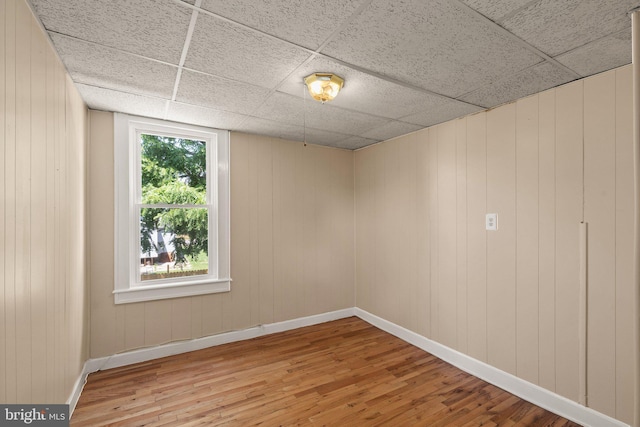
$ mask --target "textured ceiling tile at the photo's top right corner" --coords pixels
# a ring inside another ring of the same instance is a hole
[[[631,25],[640,0],[540,0],[502,22],[507,30],[550,56],[583,46]]]

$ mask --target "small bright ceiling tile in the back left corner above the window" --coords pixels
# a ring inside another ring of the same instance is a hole
[[[85,84],[76,84],[80,96],[93,110],[115,111],[136,116],[161,119],[167,100],[133,95]]]

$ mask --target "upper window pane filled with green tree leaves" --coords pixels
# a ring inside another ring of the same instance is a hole
[[[204,141],[140,135],[142,203],[205,204]]]

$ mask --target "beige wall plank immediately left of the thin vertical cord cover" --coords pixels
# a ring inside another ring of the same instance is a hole
[[[574,401],[578,400],[583,105],[582,81],[556,89],[556,392]]]

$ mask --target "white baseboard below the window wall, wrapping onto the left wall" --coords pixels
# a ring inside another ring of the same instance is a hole
[[[104,369],[117,368],[120,366],[132,365],[134,363],[146,362],[149,360],[159,359],[161,357],[173,356],[175,354],[202,350],[208,347],[214,347],[230,342],[248,340],[251,338],[261,337],[263,335],[270,335],[277,332],[303,328],[305,326],[317,325],[320,323],[343,319],[350,316],[355,316],[354,308],[345,308],[343,310],[331,311],[328,313],[316,314],[307,317],[300,317],[298,319],[285,320],[283,322],[259,325],[240,331],[225,332],[218,335],[211,335],[208,337],[196,338],[188,341],[172,342],[156,347],[143,348],[140,350],[128,351],[126,353],[118,353],[112,356],[100,357],[97,359],[89,359],[85,362],[82,373],[76,380],[71,395],[67,400],[67,404],[69,405],[69,415],[71,416],[73,414],[73,411],[78,403],[78,399],[80,398],[80,394],[82,393],[82,389],[87,382],[87,376],[93,372],[102,371]]]

